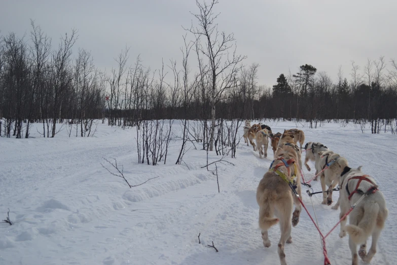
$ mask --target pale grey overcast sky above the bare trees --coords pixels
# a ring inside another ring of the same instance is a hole
[[[308,63],[334,80],[342,65],[349,78],[350,61],[361,70],[367,58],[397,59],[397,1],[219,0],[219,29],[234,32],[244,64],[260,64],[259,83],[273,85],[288,70]],[[161,67],[161,60],[181,65],[182,36],[197,12],[195,0],[43,1],[0,0],[0,30],[22,36],[30,19],[58,45],[64,32],[79,30],[77,47],[91,51],[100,69],[111,69],[126,45],[130,63]],[[193,65],[192,65],[193,66]]]

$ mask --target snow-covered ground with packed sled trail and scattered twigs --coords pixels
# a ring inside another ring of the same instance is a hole
[[[273,132],[296,127],[293,122],[268,125]],[[299,127],[306,142],[326,144],[351,167],[364,165],[363,171],[375,177],[389,218],[371,264],[397,264],[396,136],[362,134],[350,124]],[[218,193],[216,177],[200,168],[206,164],[205,151],[192,148],[186,165],[174,164],[180,141],[170,144],[167,164],[154,167],[137,164],[134,129],[99,124],[94,138],[68,138],[66,131],[54,139],[32,136],[0,138],[0,218],[10,208],[15,222],[0,223],[0,264],[279,264],[278,226],[269,231],[272,246],[264,249],[255,198],[273,159],[270,146],[266,159],[242,144],[236,159],[227,158],[235,166],[218,163]],[[101,167],[102,157],[116,158],[131,185],[159,178],[130,189]],[[314,176],[303,170],[308,178]],[[319,182],[312,183],[321,190]],[[312,212],[305,191],[303,201]],[[334,202],[337,196],[334,192]],[[312,199],[327,233],[339,211],[321,205],[320,194]],[[327,238],[329,258],[333,265],[350,264],[348,239],[340,239],[338,231],[339,226]],[[318,233],[305,212],[292,237],[293,244],[285,247],[288,264],[323,263]],[[212,241],[218,253],[205,247]]]

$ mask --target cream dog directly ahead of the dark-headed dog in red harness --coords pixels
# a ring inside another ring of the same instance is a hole
[[[332,151],[331,151],[332,152]],[[321,151],[318,152],[320,155],[320,161],[318,163],[319,168],[324,170],[321,172],[320,182],[321,182],[321,189],[322,189],[322,203],[321,204],[332,204],[332,191],[337,184],[340,184],[339,176],[343,172],[345,167],[348,167],[349,163],[347,162],[346,158],[336,154],[334,152],[330,153],[330,151]],[[319,172],[321,171],[319,170]],[[328,189],[327,187],[328,186]],[[327,195],[328,193],[328,195]],[[340,196],[338,198],[338,202],[332,209],[336,210],[339,207],[340,203]]]

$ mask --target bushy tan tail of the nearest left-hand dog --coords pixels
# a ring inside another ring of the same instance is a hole
[[[259,227],[262,230],[268,230],[271,226],[278,223],[279,219],[274,218],[271,203],[275,201],[277,194],[274,190],[265,190],[260,197],[259,206]]]

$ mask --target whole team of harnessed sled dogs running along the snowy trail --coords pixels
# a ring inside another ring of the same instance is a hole
[[[304,132],[290,129],[284,130],[282,134],[273,134],[269,126],[261,123],[251,126],[250,121],[246,120],[243,137],[247,146],[251,144],[254,151],[259,152],[260,158],[267,157],[269,139],[271,141],[274,160],[257,189],[259,227],[263,245],[270,247],[268,229],[276,223],[280,224],[278,255],[281,265],[286,265],[284,245],[292,243],[291,227],[298,224],[302,209],[296,194],[302,197],[301,154],[305,141]],[[297,146],[298,142],[300,147]],[[332,204],[332,191],[337,185],[340,186],[339,198],[332,209],[337,210],[340,207],[339,219],[360,200],[348,215],[349,224],[346,225],[347,217],[341,220],[339,237],[343,238],[346,233],[349,234],[353,265],[358,264],[358,256],[363,261],[370,262],[376,253],[376,245],[388,215],[383,193],[378,190],[375,180],[362,172],[362,167],[350,168],[346,158],[334,153],[327,146],[308,142],[304,149],[306,169],[311,171],[307,162],[314,161],[314,180],[317,180],[317,175],[320,178],[322,204]],[[372,243],[367,253],[367,240],[370,236]]]

